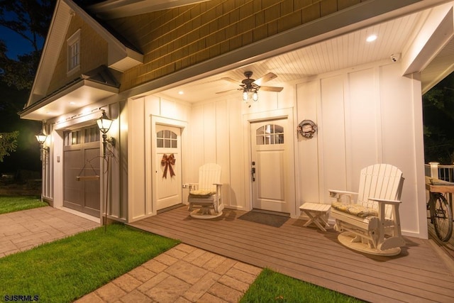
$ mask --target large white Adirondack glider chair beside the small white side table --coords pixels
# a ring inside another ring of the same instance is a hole
[[[363,253],[398,255],[405,245],[399,219],[403,185],[399,168],[376,164],[361,170],[358,193],[330,189],[331,197],[336,198],[331,204],[334,228],[342,232],[338,240]],[[353,195],[357,195],[354,203]]]

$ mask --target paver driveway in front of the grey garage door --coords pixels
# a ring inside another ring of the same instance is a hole
[[[50,206],[0,214],[0,258],[97,226],[99,223]]]

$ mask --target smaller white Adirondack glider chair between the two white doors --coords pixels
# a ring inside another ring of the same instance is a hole
[[[212,219],[222,215],[221,166],[208,163],[199,168],[199,183],[189,183],[189,211],[196,219]]]

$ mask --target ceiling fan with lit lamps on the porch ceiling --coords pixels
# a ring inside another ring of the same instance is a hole
[[[241,82],[236,81],[232,78],[228,77],[222,77],[221,79],[233,82],[235,84],[240,83],[240,88],[238,89],[229,89],[227,91],[223,92],[217,92],[216,94],[223,94],[225,92],[231,92],[233,90],[239,90],[243,91],[243,101],[247,102],[248,100],[253,100],[253,101],[258,101],[258,91],[259,89],[266,91],[266,92],[281,92],[284,87],[267,87],[267,86],[262,86],[262,83],[268,82],[271,79],[275,79],[277,75],[273,74],[272,72],[268,72],[267,75],[264,75],[263,77],[259,79],[253,79],[251,78],[253,76],[253,72],[244,72],[244,76],[246,79],[243,79]]]

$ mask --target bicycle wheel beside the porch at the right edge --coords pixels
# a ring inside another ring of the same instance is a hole
[[[429,190],[427,209],[438,238],[443,242],[448,241],[453,234],[453,213],[444,194]]]

